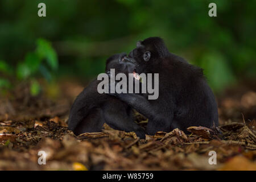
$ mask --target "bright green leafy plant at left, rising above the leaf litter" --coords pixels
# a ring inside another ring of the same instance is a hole
[[[50,82],[52,81],[53,73],[51,71],[56,71],[59,66],[56,52],[52,48],[51,43],[44,39],[38,39],[36,45],[34,52],[28,52],[24,60],[18,61],[15,72],[17,80],[30,82],[31,96],[37,96],[41,90],[39,82],[35,79],[36,76],[41,73],[41,76]],[[0,72],[4,75],[15,77],[10,65],[1,60]],[[10,81],[7,78],[0,78],[0,91],[10,88]]]

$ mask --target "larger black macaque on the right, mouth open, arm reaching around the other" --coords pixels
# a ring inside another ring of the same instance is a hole
[[[175,128],[188,133],[189,126],[218,126],[216,100],[203,69],[170,53],[158,37],[137,42],[129,57],[137,61],[138,74],[159,73],[156,100],[134,93],[112,94],[148,118],[147,134]]]

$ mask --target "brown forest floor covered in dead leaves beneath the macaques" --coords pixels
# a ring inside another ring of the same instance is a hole
[[[256,88],[240,84],[218,97],[218,127],[192,126],[190,135],[175,129],[146,139],[108,125],[101,133],[75,136],[67,119],[83,88],[61,81],[59,89],[57,99],[31,97],[21,84],[0,98],[0,170],[256,170]],[[145,127],[147,120],[135,114]],[[46,152],[46,164],[38,163],[39,151]],[[210,151],[216,164],[209,164]]]

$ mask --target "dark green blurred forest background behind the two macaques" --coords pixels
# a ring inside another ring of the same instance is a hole
[[[40,2],[46,17],[37,14]],[[217,17],[208,16],[211,2]],[[204,68],[218,92],[238,78],[256,77],[255,7],[256,1],[242,0],[1,0],[0,60],[6,62],[0,61],[0,72],[7,64],[18,68],[19,78],[38,72],[48,80],[52,73],[91,78],[104,72],[110,55],[160,36],[170,52]]]

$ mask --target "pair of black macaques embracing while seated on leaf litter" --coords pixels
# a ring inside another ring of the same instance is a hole
[[[170,53],[158,37],[137,42],[128,56],[110,56],[105,73],[110,79],[92,81],[71,107],[68,129],[76,135],[99,132],[104,123],[141,139],[157,131],[218,126],[217,103],[203,69]],[[146,130],[134,122],[133,109],[148,118]]]

